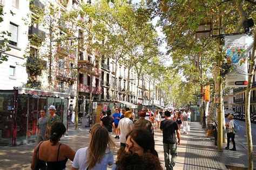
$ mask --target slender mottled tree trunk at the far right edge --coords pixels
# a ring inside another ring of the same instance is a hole
[[[254,40],[250,62],[250,70],[248,74],[248,85],[245,92],[245,125],[246,125],[246,139],[247,139],[247,155],[248,155],[248,169],[253,169],[253,145],[252,145],[252,130],[250,121],[250,98],[252,91],[253,75],[254,75],[254,60],[255,60],[255,45],[256,45],[256,27],[254,28]]]

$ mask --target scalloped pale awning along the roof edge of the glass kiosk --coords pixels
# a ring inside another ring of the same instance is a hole
[[[70,98],[70,94],[68,93],[59,93],[57,91],[47,91],[47,90],[28,89],[28,88],[18,88],[18,94]]]

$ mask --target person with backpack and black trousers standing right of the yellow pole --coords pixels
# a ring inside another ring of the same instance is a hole
[[[227,147],[225,147],[226,150],[230,149],[230,138],[232,140],[233,143],[233,148],[230,149],[231,151],[237,151],[237,149],[235,148],[235,141],[234,141],[234,137],[235,137],[235,131],[234,131],[234,116],[233,115],[228,115],[227,116],[228,119],[230,119],[230,123],[226,124],[226,128],[228,129],[228,133],[227,133]]]

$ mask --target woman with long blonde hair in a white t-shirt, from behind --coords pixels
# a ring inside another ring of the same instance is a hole
[[[76,152],[71,169],[107,169],[107,165],[114,162],[111,151],[114,147],[116,144],[107,129],[100,124],[93,125],[89,147],[80,148]]]

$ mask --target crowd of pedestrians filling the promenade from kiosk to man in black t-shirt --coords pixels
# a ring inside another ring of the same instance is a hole
[[[38,135],[33,152],[32,169],[64,169],[68,159],[73,161],[71,169],[106,169],[112,164],[112,169],[163,169],[154,148],[154,129],[163,131],[165,168],[173,169],[177,145],[180,145],[180,125],[183,124],[183,133],[188,133],[191,116],[189,110],[153,112],[147,109],[140,110],[136,120],[129,108],[115,109],[113,114],[110,110],[102,111],[100,122],[90,130],[89,146],[75,152],[59,143],[66,128],[55,114],[55,107],[51,105],[48,110],[50,116],[45,118],[46,111],[42,110],[43,121],[38,121],[41,135]],[[114,140],[120,142],[116,161],[113,158],[113,148],[117,147]]]

